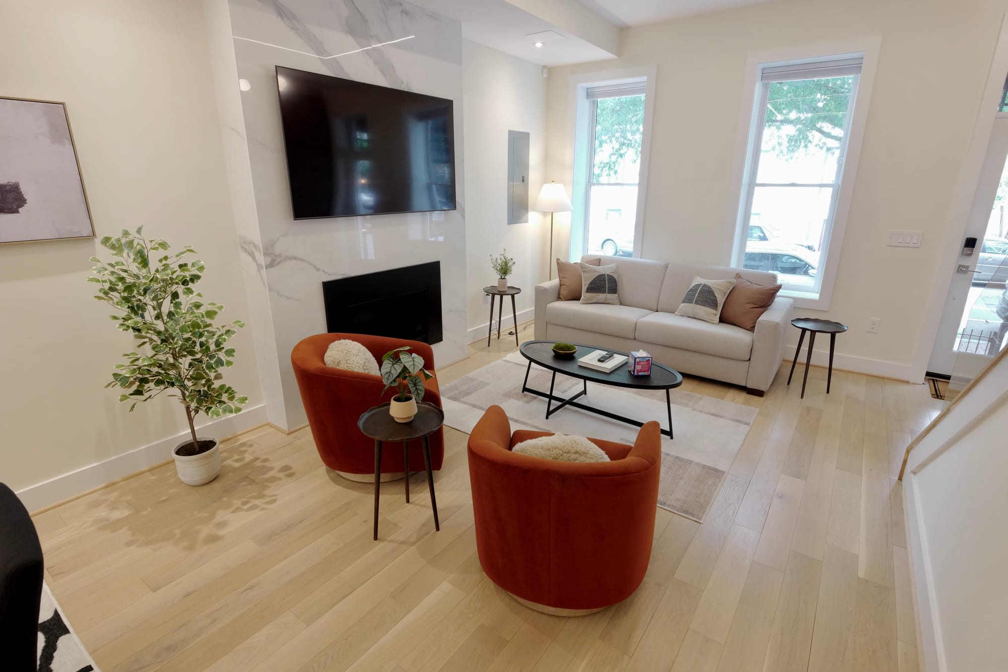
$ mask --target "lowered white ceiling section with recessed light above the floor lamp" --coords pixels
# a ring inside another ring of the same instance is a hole
[[[466,39],[540,66],[565,66],[612,59],[613,54],[505,0],[410,0],[430,11],[462,22]],[[530,33],[551,30],[560,38],[540,38],[535,46]]]

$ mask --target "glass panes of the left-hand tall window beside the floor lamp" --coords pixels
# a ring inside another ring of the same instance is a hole
[[[644,136],[644,83],[592,87],[585,198],[585,248],[633,254],[637,185]]]

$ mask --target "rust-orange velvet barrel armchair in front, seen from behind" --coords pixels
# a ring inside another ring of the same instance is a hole
[[[661,435],[633,446],[591,439],[609,462],[560,462],[512,453],[548,432],[513,435],[499,406],[469,437],[476,546],[487,575],[526,605],[580,615],[626,599],[651,558]]]

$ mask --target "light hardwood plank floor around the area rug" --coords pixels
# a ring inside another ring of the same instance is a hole
[[[513,350],[477,342],[439,378]],[[895,476],[938,402],[845,372],[827,396],[820,368],[802,401],[786,378],[763,399],[686,379],[759,413],[704,525],[659,509],[644,582],[593,615],[532,611],[483,574],[451,429],[439,533],[422,474],[409,505],[382,488],[374,542],[372,486],[327,472],[307,430],[261,428],[208,485],[169,464],[35,516],[46,579],[105,672],[916,670]]]

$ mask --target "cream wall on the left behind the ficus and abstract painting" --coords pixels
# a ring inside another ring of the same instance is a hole
[[[67,103],[98,237],[142,224],[193,245],[207,262],[201,290],[227,307],[223,318],[248,319],[208,61],[199,0],[3,5],[0,94]],[[107,463],[69,487],[126,475],[167,459],[185,430],[173,400],[129,414],[102,388],[133,347],[85,279],[88,257],[103,253],[97,240],[0,245],[0,480],[14,490],[154,444],[143,460]],[[234,342],[226,379],[249,410],[229,432],[261,404],[247,330]]]

